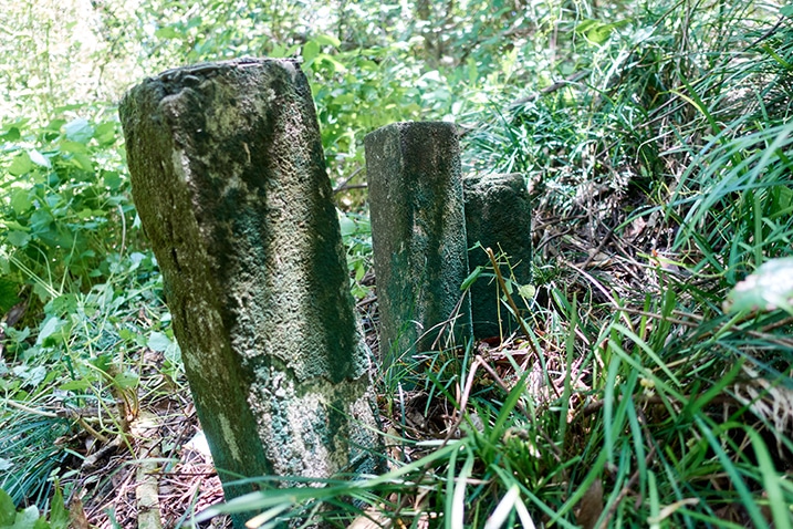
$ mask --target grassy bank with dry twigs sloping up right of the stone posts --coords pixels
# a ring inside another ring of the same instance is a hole
[[[722,8],[578,19],[594,51],[567,58],[570,82],[471,114],[469,166],[524,173],[534,197],[529,335],[382,376],[388,474],[205,518],[793,527],[790,267],[757,282],[780,304],[726,304],[793,255],[793,40],[785,15],[763,22],[773,8]]]

